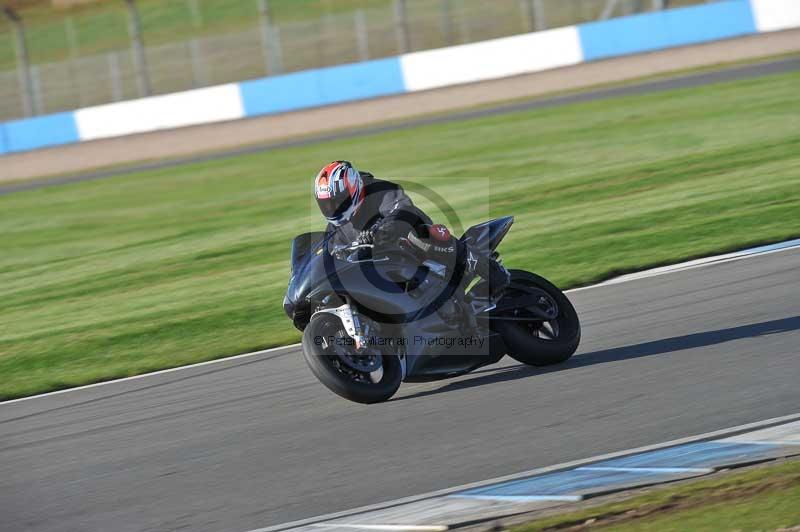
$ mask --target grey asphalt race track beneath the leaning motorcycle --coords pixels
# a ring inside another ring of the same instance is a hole
[[[297,349],[0,405],[0,529],[246,531],[797,412],[800,250],[570,297],[568,363],[381,405]]]

